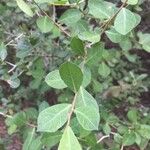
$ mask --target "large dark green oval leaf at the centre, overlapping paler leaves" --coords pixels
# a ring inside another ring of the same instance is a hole
[[[59,73],[65,84],[74,92],[77,92],[83,81],[81,69],[71,63],[66,62],[60,66]]]

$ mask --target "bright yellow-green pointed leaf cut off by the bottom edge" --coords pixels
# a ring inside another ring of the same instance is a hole
[[[70,127],[65,129],[58,150],[82,150],[80,143]]]

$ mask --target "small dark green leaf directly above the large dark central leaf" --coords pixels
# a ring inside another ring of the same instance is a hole
[[[74,37],[71,40],[70,46],[71,46],[71,49],[76,54],[79,54],[79,55],[83,55],[84,54],[84,45],[83,45],[83,42],[80,39],[78,39],[77,37]]]

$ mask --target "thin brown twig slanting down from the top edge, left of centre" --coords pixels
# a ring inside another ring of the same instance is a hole
[[[46,16],[49,18],[49,20],[51,20],[51,21],[60,29],[60,31],[61,31],[62,33],[64,33],[64,34],[67,35],[68,37],[71,37],[71,35],[70,35],[67,31],[65,31],[64,28],[63,28],[61,25],[59,25],[57,22],[55,22],[55,21],[53,20],[53,18],[51,18],[43,9],[41,9],[41,7],[40,7],[35,1],[33,1],[33,2],[34,2],[34,4],[39,8],[39,10],[40,10],[41,12],[43,12],[44,15],[46,15]]]

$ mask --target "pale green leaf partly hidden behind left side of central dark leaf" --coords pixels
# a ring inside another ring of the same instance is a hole
[[[63,89],[63,88],[67,87],[67,85],[64,83],[64,81],[60,77],[59,70],[54,70],[54,71],[50,72],[46,76],[45,82],[49,86],[56,88],[56,89]]]

